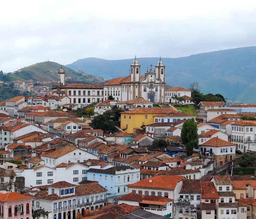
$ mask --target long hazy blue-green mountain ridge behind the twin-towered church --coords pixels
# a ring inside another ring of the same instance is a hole
[[[159,58],[137,58],[144,74],[150,64]],[[165,81],[172,86],[187,88],[192,82],[200,83],[200,90],[220,93],[225,98],[256,102],[256,47],[195,54],[181,58],[162,58],[166,66]],[[81,70],[104,79],[129,75],[133,59],[106,60],[79,59],[67,67]]]

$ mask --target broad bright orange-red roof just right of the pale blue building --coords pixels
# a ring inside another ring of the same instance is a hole
[[[142,179],[136,183],[128,184],[127,187],[145,187],[174,190],[177,186],[177,183],[182,179],[184,179],[184,176],[155,176],[149,179]]]

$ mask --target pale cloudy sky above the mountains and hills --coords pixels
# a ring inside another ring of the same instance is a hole
[[[256,1],[2,1],[0,70],[256,45]]]

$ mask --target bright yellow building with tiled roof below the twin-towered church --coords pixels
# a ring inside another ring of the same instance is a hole
[[[154,116],[159,113],[178,113],[175,108],[138,107],[121,113],[120,128],[126,133],[133,133],[134,128],[154,123]]]

